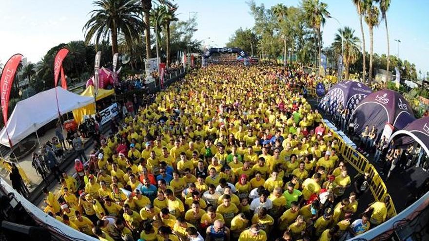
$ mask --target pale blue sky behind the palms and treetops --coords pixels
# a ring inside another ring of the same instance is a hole
[[[342,26],[355,30],[361,38],[359,18],[351,0],[323,0],[328,4],[332,17]],[[178,18],[189,16],[197,19],[195,39],[205,44],[224,47],[239,27],[252,28],[254,19],[250,15],[246,0],[175,0],[179,5]],[[256,0],[267,8],[276,3],[297,6],[300,0]],[[411,4],[412,3],[412,4]],[[94,8],[92,0],[0,0],[0,62],[20,53],[28,61],[38,62],[46,52],[60,43],[83,39],[82,27]],[[429,17],[428,0],[392,0],[388,12],[390,54],[416,64],[417,72],[429,71]],[[334,19],[327,19],[323,27],[324,45],[331,44],[340,27]],[[364,23],[366,48],[369,51],[369,33]],[[209,39],[210,37],[210,39]],[[387,54],[384,21],[374,29],[374,53]]]

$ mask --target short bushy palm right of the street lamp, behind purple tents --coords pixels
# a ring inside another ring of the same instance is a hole
[[[343,39],[342,43],[341,39]],[[335,34],[334,42],[332,43],[332,47],[334,47],[337,53],[341,53],[341,44],[343,44],[344,48],[344,79],[347,80],[349,79],[349,67],[356,62],[358,57],[360,40],[354,36],[353,29],[344,27],[342,32],[341,29],[338,29],[338,33]]]

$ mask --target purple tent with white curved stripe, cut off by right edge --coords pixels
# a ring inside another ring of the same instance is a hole
[[[389,142],[391,140],[394,141],[395,146],[400,148],[417,142],[429,155],[429,117],[416,119],[409,123],[404,129],[393,133]]]

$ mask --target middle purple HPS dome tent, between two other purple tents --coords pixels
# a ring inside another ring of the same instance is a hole
[[[377,135],[380,135],[387,123],[401,130],[414,120],[411,106],[400,93],[382,90],[363,99],[351,113],[350,123],[354,123],[356,134],[368,125],[370,128],[375,126]]]

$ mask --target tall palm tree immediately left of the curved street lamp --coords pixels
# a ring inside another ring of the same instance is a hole
[[[307,19],[310,26],[313,28],[315,35],[317,36],[317,48],[318,48],[318,62],[321,65],[320,54],[322,53],[321,41],[322,34],[320,32],[321,26],[325,25],[325,17],[329,15],[327,10],[328,4],[319,2],[319,0],[303,0],[302,6],[305,12],[305,18]]]

